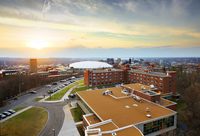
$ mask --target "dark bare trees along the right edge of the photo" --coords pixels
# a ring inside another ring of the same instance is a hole
[[[185,73],[177,70],[177,91],[186,105],[178,110],[178,124],[187,127],[177,135],[198,136],[200,134],[200,73]],[[180,126],[179,126],[180,127]],[[178,129],[180,129],[178,127]],[[181,133],[180,133],[181,132]]]

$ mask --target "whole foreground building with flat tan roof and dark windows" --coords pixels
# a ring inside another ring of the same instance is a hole
[[[150,86],[120,87],[78,92],[86,136],[174,136],[176,103],[165,100]],[[82,106],[81,106],[82,105]]]

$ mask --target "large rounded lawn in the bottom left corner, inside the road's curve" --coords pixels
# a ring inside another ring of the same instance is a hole
[[[2,136],[37,136],[44,127],[48,113],[43,108],[33,107],[1,124]]]

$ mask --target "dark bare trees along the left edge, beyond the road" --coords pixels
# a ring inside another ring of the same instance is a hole
[[[24,93],[27,90],[41,85],[49,84],[58,80],[71,77],[72,75],[66,75],[62,77],[41,77],[39,75],[18,75],[13,76],[5,80],[0,81],[0,106],[3,103],[20,93]]]

